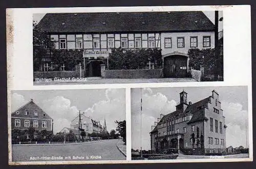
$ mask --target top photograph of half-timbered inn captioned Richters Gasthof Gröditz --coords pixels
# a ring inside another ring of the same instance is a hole
[[[222,11],[33,14],[34,85],[223,79]]]

